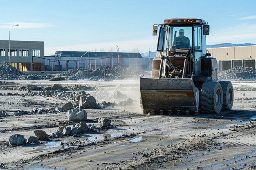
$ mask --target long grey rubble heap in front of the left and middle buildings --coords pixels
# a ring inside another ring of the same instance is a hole
[[[36,80],[36,79],[49,79],[51,81],[59,80],[79,80],[79,79],[128,79],[139,77],[139,75],[148,73],[141,71],[136,68],[123,68],[121,66],[101,66],[97,70],[86,70],[84,68],[70,69],[68,71],[57,73],[55,75],[26,75],[18,69],[10,66],[6,62],[0,62],[0,80],[11,80],[11,79],[26,79],[26,80]]]

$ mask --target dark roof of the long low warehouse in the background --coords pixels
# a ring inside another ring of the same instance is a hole
[[[55,57],[118,57],[117,52],[96,52],[96,51],[56,51]],[[122,58],[142,58],[140,53],[119,53]]]

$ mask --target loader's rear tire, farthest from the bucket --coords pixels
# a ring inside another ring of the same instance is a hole
[[[234,102],[234,90],[232,83],[229,81],[220,81],[219,83],[223,91],[222,110],[231,110]]]

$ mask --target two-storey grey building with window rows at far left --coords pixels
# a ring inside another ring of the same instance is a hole
[[[20,71],[44,71],[44,60],[32,56],[44,57],[44,42],[0,40],[0,62],[10,62]]]

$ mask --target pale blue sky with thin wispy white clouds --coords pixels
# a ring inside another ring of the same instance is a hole
[[[55,51],[156,50],[153,24],[168,18],[202,18],[207,44],[255,43],[256,0],[0,0],[0,40],[45,42]],[[161,2],[161,3],[160,3]]]

